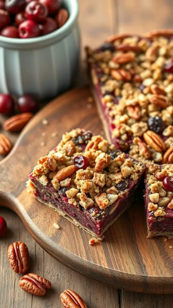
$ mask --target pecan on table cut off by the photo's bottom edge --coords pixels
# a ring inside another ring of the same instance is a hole
[[[62,292],[60,299],[64,308],[87,308],[83,299],[72,290]]]

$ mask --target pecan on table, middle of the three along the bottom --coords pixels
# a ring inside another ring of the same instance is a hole
[[[46,293],[46,289],[50,289],[51,283],[37,274],[30,273],[24,275],[19,280],[19,286],[30,294],[43,296]]]

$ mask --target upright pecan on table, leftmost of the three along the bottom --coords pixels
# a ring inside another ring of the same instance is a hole
[[[26,273],[29,267],[29,252],[23,242],[14,242],[9,246],[8,258],[15,273]]]

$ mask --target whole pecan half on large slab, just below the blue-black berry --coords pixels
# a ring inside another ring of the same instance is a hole
[[[163,140],[153,131],[147,131],[143,134],[145,142],[156,152],[162,152],[166,150]]]

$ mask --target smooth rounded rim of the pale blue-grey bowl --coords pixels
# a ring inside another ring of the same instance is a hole
[[[46,35],[42,35],[42,36],[38,36],[36,38],[28,38],[28,39],[16,39],[16,38],[9,38],[6,36],[2,36],[0,35],[0,44],[1,43],[6,43],[6,44],[18,44],[19,46],[25,44],[25,45],[29,45],[31,43],[43,43],[47,40],[51,40],[54,38],[57,38],[58,36],[62,37],[66,34],[66,32],[68,31],[68,29],[73,25],[73,23],[75,22],[76,18],[78,17],[78,0],[62,0],[61,1],[68,9],[70,9],[69,12],[69,18],[66,21],[66,23],[60,27],[59,29],[46,34]]]

